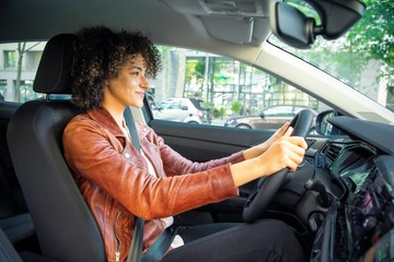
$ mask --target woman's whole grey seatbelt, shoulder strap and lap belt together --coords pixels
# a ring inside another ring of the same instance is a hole
[[[125,121],[127,128],[130,132],[132,145],[140,152],[140,143],[138,139],[136,123],[134,121],[130,107],[126,107],[124,112]],[[143,236],[143,219],[136,216],[136,226],[132,233],[132,240],[130,243],[129,254],[127,257],[127,262],[159,262],[161,258],[169,250],[170,245],[174,240],[175,235],[177,234],[178,227],[170,226],[167,227],[157,240],[149,248],[147,253],[141,259],[142,252],[142,236]]]

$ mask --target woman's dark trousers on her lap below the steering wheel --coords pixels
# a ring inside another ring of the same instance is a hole
[[[208,224],[178,234],[185,245],[171,250],[163,262],[306,261],[294,231],[279,221]]]

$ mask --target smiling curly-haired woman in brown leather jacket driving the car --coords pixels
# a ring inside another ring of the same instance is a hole
[[[149,127],[137,123],[139,153],[125,124],[127,106],[141,108],[147,76],[161,68],[139,33],[82,28],[74,43],[72,100],[86,112],[63,133],[66,159],[99,224],[108,261],[125,261],[136,216],[146,219],[143,252],[172,216],[235,196],[237,187],[285,167],[294,170],[306,144],[286,123],[267,142],[229,157],[192,163]],[[277,221],[182,228],[163,261],[302,261],[292,230]]]

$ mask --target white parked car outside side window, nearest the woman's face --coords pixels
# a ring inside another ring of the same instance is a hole
[[[204,102],[196,98],[166,98],[153,108],[155,119],[187,123],[209,123],[210,112]]]

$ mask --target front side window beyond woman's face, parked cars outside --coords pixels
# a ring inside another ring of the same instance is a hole
[[[150,81],[150,94],[158,105],[153,108],[153,118],[228,128],[273,129],[298,112],[294,105],[315,111],[328,109],[324,103],[285,81],[234,59],[167,46],[159,49],[164,68]],[[193,117],[165,114],[170,109],[163,108],[161,103],[181,98],[188,100]],[[254,119],[253,124],[228,123],[235,118],[259,116],[263,111],[266,117],[277,117],[277,123],[265,124],[260,117]],[[256,123],[258,121],[262,124]]]

